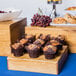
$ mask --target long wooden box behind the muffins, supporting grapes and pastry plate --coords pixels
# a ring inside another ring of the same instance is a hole
[[[69,48],[71,53],[76,53],[76,27],[75,26],[51,26],[48,28],[42,27],[26,27],[25,33],[36,34],[40,33],[51,34],[52,36],[64,35],[67,42],[69,43]]]

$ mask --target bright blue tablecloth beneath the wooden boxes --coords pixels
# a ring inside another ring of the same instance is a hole
[[[7,69],[7,57],[0,57],[0,76],[76,76],[76,54],[69,54],[59,75],[11,71]]]

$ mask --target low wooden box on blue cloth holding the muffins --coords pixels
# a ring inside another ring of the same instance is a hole
[[[18,71],[29,71],[38,73],[58,74],[64,62],[68,57],[67,46],[63,47],[60,55],[54,59],[47,60],[44,55],[38,58],[30,58],[28,54],[22,57],[14,57],[13,55],[7,58],[8,69]]]

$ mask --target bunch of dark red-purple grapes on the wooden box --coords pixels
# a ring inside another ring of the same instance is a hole
[[[31,21],[31,26],[47,27],[50,26],[52,19],[46,15],[35,14]]]

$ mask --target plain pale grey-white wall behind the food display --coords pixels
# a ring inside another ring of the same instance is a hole
[[[69,6],[76,6],[76,0],[63,0],[62,4],[57,5],[57,11],[61,14]],[[21,16],[28,18],[28,25],[33,14],[37,12],[37,8],[51,9],[47,0],[0,0],[0,9],[9,7],[23,10]]]

